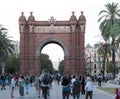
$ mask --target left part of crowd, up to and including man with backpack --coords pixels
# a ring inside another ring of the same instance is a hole
[[[43,83],[44,76],[48,75],[48,82]],[[37,75],[20,75],[18,73],[15,74],[1,74],[0,75],[0,88],[1,90],[6,90],[6,87],[11,88],[11,98],[14,98],[14,90],[15,88],[19,88],[19,94],[21,97],[24,97],[24,95],[29,94],[30,87],[34,86],[36,89],[36,94],[40,98],[41,96],[44,97],[44,99],[47,99],[47,95],[49,96],[48,89],[51,87],[53,81],[53,75],[48,73],[46,70],[42,71],[42,74]]]

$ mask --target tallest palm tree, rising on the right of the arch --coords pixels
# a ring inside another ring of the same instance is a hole
[[[111,29],[114,27],[115,24],[119,24],[120,19],[120,9],[118,7],[118,3],[107,3],[105,5],[107,10],[102,10],[99,15],[102,15],[98,22],[100,23],[100,31],[105,41],[110,41],[112,46],[112,70],[113,70],[113,79],[115,78],[115,41],[118,38],[118,35],[114,36],[115,32],[112,32]],[[103,19],[104,18],[104,19]],[[103,20],[102,20],[103,19]],[[116,34],[116,33],[115,33]]]

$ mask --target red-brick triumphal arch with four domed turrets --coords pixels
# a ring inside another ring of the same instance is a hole
[[[41,73],[41,50],[45,45],[55,43],[64,51],[64,73],[84,75],[86,18],[83,12],[78,19],[72,12],[70,19],[65,21],[56,20],[53,16],[47,21],[36,21],[32,12],[28,18],[22,12],[18,21],[21,74]]]

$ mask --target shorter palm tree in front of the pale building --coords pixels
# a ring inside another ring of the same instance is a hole
[[[102,76],[105,76],[105,62],[106,59],[109,56],[111,56],[111,46],[108,43],[98,42],[94,45],[95,48],[97,48],[98,58],[103,57],[102,59],[102,66],[103,66],[103,72]]]

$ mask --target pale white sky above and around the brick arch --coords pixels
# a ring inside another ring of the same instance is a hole
[[[48,20],[51,16],[59,21],[69,20],[72,11],[75,11],[77,18],[80,12],[84,11],[87,20],[85,45],[88,43],[94,45],[100,40],[98,14],[105,9],[104,5],[108,2],[116,2],[120,5],[120,0],[0,0],[0,24],[9,30],[8,33],[13,40],[19,41],[18,19],[21,12],[24,12],[28,18],[32,11],[37,21]],[[60,52],[63,54],[63,51]],[[62,54],[60,55],[64,56]],[[58,55],[54,61],[59,57]]]

